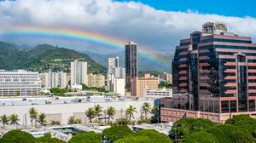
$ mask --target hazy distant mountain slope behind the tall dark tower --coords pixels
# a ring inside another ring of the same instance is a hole
[[[95,60],[102,66],[108,67],[108,58],[119,57],[119,66],[125,67],[125,51],[114,54],[96,54],[86,51],[90,58]],[[139,71],[159,71],[172,72],[172,58],[173,54],[146,54],[142,56],[138,54]]]

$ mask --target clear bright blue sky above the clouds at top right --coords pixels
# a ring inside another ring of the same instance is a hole
[[[122,2],[122,0],[118,0]],[[256,17],[256,0],[133,0],[167,11],[198,11],[202,14]],[[129,2],[129,1],[128,1]]]

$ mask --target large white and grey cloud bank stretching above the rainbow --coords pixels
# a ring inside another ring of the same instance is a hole
[[[0,2],[0,20],[0,29],[19,24],[79,27],[136,41],[159,52],[173,52],[181,38],[189,37],[195,30],[201,31],[201,25],[207,21],[223,21],[228,25],[228,31],[256,40],[256,19],[253,17],[201,14],[194,9],[186,12],[163,11],[143,3],[111,0],[3,1]],[[19,41],[27,42],[44,43],[42,39]],[[83,46],[47,42],[75,49]]]

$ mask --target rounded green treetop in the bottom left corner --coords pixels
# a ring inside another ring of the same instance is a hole
[[[36,143],[32,134],[20,131],[18,129],[11,130],[0,138],[1,143]]]

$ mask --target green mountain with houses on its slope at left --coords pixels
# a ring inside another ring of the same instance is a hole
[[[87,61],[88,72],[107,72],[106,67],[96,63],[88,54],[72,49],[56,48],[49,44],[26,49],[13,43],[0,42],[0,69],[37,72],[48,72],[51,69],[53,72],[70,72],[70,61],[74,59]]]

